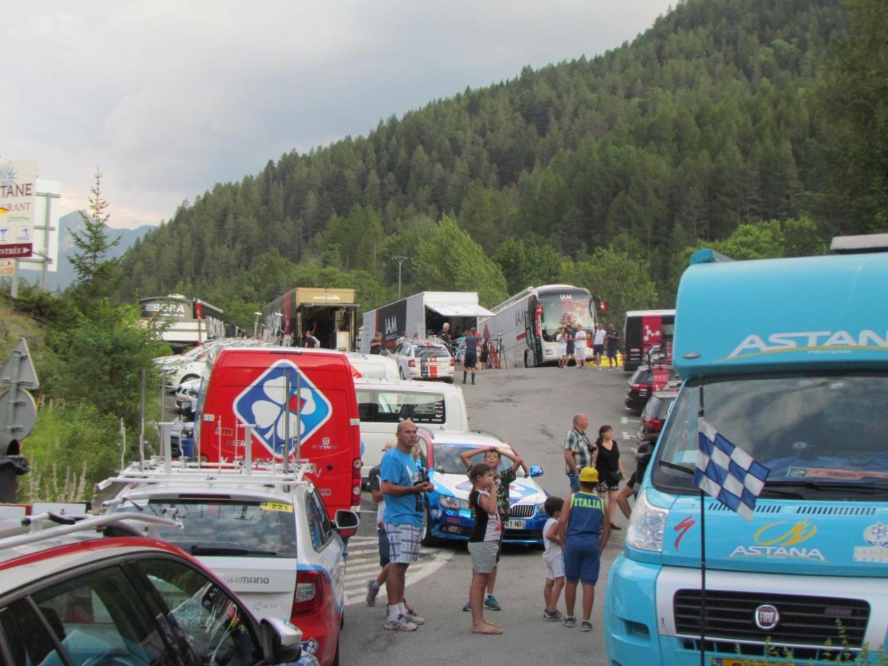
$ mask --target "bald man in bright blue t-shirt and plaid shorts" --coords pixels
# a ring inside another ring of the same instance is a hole
[[[385,535],[389,541],[392,568],[385,579],[388,619],[385,629],[414,631],[425,622],[404,607],[404,579],[407,567],[419,559],[425,517],[424,493],[432,490],[428,481],[418,483],[416,461],[411,451],[416,446],[416,424],[401,421],[395,432],[398,445],[383,456],[379,469],[380,488],[385,496]]]

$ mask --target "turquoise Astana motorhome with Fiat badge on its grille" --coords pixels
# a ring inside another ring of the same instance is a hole
[[[607,581],[609,666],[700,663],[701,617],[711,666],[779,663],[787,650],[795,663],[835,663],[842,646],[875,664],[886,650],[886,241],[836,238],[813,258],[691,258],[674,338],[683,385]],[[751,522],[705,498],[703,612],[701,387],[706,422],[770,470]]]

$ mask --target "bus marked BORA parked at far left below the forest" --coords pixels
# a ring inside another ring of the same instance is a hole
[[[239,329],[221,308],[181,294],[139,300],[142,326],[155,326],[158,337],[181,353],[217,337],[236,337]]]

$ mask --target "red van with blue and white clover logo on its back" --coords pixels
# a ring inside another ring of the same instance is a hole
[[[289,385],[288,385],[289,379]],[[289,458],[309,474],[332,519],[361,500],[361,428],[344,353],[296,347],[225,347],[210,353],[194,416],[195,453],[206,463]],[[298,440],[297,440],[298,435]]]

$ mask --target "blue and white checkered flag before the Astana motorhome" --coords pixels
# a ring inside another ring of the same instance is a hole
[[[742,448],[735,447],[710,424],[697,424],[697,466],[694,483],[731,511],[752,520],[756,498],[770,470]]]

